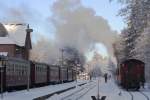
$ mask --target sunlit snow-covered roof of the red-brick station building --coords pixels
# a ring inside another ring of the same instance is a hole
[[[16,44],[18,46],[25,46],[27,26],[5,25],[5,28],[8,35],[0,37],[0,44]]]

